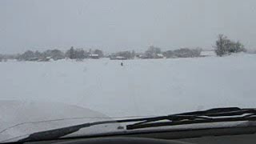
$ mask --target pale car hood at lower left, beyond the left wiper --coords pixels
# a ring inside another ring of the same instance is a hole
[[[0,142],[15,142],[39,131],[106,120],[110,118],[104,114],[62,103],[0,101]]]

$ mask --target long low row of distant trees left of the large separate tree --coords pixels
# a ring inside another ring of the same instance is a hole
[[[106,54],[104,55],[102,50],[83,50],[83,49],[75,49],[71,47],[66,52],[62,50],[54,49],[54,50],[45,50],[45,51],[33,51],[33,50],[26,50],[22,54],[0,54],[0,61],[4,61],[6,59],[17,59],[18,61],[50,61],[59,60],[64,58],[69,59],[77,59],[82,60],[85,58],[110,58],[110,59],[134,59],[134,58],[192,58],[192,57],[199,57],[202,49],[188,49],[182,48],[178,50],[167,50],[162,51],[161,48],[156,46],[150,46],[148,50],[144,53],[136,53],[134,50],[131,51],[118,51],[113,54]]]

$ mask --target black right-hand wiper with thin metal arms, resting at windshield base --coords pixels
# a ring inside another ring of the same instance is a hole
[[[240,109],[238,107],[216,108],[148,118],[145,121],[127,125],[126,129],[135,130],[155,126],[176,126],[209,122],[255,121],[255,116],[256,109]],[[168,122],[159,122],[164,120]]]

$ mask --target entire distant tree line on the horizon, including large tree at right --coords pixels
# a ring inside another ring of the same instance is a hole
[[[219,34],[215,42],[214,51],[218,56],[225,56],[232,53],[246,52],[246,48],[241,42],[234,42],[223,34]],[[202,49],[181,48],[178,50],[162,51],[157,46],[150,46],[144,53],[131,51],[119,51],[113,54],[104,55],[102,50],[83,50],[73,46],[63,52],[62,50],[26,50],[22,54],[0,54],[0,62],[6,59],[18,59],[19,61],[49,61],[50,59],[59,60],[63,58],[84,59],[84,58],[110,58],[110,59],[134,59],[134,58],[194,58],[201,56]]]

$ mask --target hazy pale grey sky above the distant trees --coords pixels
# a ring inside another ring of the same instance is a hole
[[[256,1],[0,0],[0,53],[212,48],[218,34],[256,49]]]

